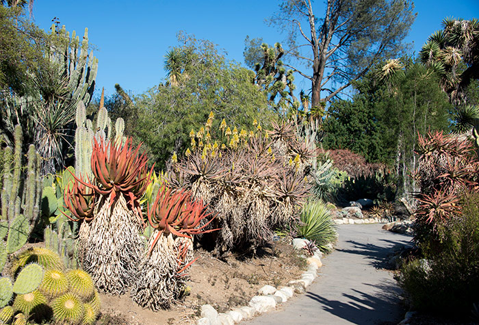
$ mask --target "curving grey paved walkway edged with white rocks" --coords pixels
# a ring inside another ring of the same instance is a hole
[[[411,236],[381,229],[383,224],[338,226],[336,250],[325,257],[306,294],[244,325],[398,324],[405,311],[391,272],[383,270],[394,246]]]

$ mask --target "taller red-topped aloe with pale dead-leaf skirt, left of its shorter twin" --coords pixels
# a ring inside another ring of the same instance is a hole
[[[66,190],[68,209],[81,220],[78,259],[101,291],[122,294],[133,282],[140,263],[144,226],[139,199],[153,168],[148,172],[140,145],[96,142],[91,159],[94,179],[75,176]]]

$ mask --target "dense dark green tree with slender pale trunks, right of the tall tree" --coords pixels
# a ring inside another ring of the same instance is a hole
[[[415,169],[417,135],[448,129],[452,109],[439,76],[405,61],[387,62],[355,82],[352,101],[335,101],[324,122],[326,148],[348,148],[394,166],[401,195],[415,190],[407,174]]]

